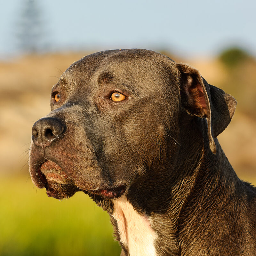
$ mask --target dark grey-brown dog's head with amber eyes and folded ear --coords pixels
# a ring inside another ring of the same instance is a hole
[[[236,101],[186,64],[148,50],[113,50],[72,64],[52,88],[51,112],[32,128],[29,171],[48,196],[116,198],[180,147],[180,117],[206,118],[208,140]]]

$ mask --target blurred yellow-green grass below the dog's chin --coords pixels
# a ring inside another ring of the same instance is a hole
[[[107,212],[83,192],[58,201],[30,178],[1,177],[0,255],[120,255]]]

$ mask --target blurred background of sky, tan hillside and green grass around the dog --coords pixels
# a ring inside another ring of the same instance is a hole
[[[28,173],[35,121],[70,64],[146,48],[197,68],[238,101],[219,136],[237,175],[256,185],[256,2],[1,0],[0,255],[119,255],[108,214],[77,193],[58,201]]]

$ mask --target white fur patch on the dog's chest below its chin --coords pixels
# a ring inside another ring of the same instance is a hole
[[[120,241],[129,249],[130,256],[155,256],[157,235],[148,216],[136,212],[124,196],[114,200],[114,209],[112,216],[117,222]]]

